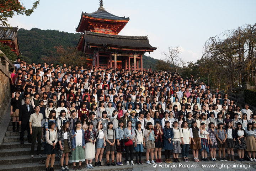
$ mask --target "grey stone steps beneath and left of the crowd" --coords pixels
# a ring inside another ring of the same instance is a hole
[[[12,132],[12,122],[10,122],[7,131],[5,133],[5,137],[3,139],[3,143],[0,146],[0,171],[13,171],[14,169],[18,169],[19,171],[43,171],[45,170],[45,164],[39,164],[40,160],[46,159],[46,155],[43,155],[43,148],[42,148],[42,156],[43,157],[37,157],[34,156],[33,159],[30,159],[30,149],[31,149],[31,144],[28,143],[27,138],[25,138],[24,144],[20,144],[20,132]],[[27,137],[27,132],[25,132],[25,136]],[[37,146],[37,145],[36,145]],[[36,148],[35,148],[36,150]],[[236,153],[236,149],[234,149]],[[193,164],[193,156],[192,156],[192,150],[189,151],[189,160],[191,161],[190,163]],[[227,155],[227,154],[226,154]],[[122,162],[123,164],[125,163],[124,156],[125,154],[122,154]],[[182,161],[182,155],[179,155],[179,160]],[[208,154],[208,160],[210,159],[210,155]],[[218,153],[217,153],[218,156]],[[237,154],[235,154],[235,158],[238,159]],[[124,167],[126,169],[131,169],[132,166],[111,166],[107,167],[104,166],[106,165],[106,154],[103,154],[103,159],[102,159],[102,165],[103,167],[95,167],[94,169],[91,170],[102,170],[104,169],[105,171],[107,170],[123,170]],[[172,155],[171,155],[172,158]],[[201,155],[199,154],[199,160],[201,160]],[[164,156],[164,150],[162,150],[162,156],[161,156],[162,161],[165,161],[165,156]],[[218,158],[217,158],[218,159]],[[134,164],[135,164],[135,153],[134,153]],[[94,165],[94,161],[92,161],[92,164]],[[145,150],[142,153],[142,161],[144,162],[144,166],[146,165],[146,157],[145,157]],[[115,161],[116,162],[116,161]],[[65,163],[65,161],[64,161]],[[185,162],[184,162],[185,164]],[[136,164],[135,164],[136,165]],[[69,168],[72,169],[72,164],[69,164]],[[143,166],[143,165],[142,165]],[[82,162],[82,167],[85,168],[85,162]],[[135,167],[135,166],[134,166]],[[137,165],[136,165],[137,167]],[[54,164],[54,169],[55,170],[60,170],[60,162],[59,162],[59,157],[55,157],[55,164]]]

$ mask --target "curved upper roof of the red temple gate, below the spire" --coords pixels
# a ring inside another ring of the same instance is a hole
[[[106,19],[106,20],[130,20],[129,17],[118,17],[116,15],[113,15],[106,10],[98,9],[95,12],[92,13],[86,13],[82,12],[82,16],[92,17],[92,18],[99,18],[99,19]]]

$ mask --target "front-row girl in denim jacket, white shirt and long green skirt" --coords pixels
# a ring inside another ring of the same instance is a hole
[[[75,110],[74,110],[75,111]],[[76,112],[73,113],[72,117],[76,116]],[[76,117],[75,117],[76,118]],[[73,170],[77,170],[76,162],[79,162],[78,169],[82,169],[82,161],[85,161],[85,138],[84,138],[84,130],[82,130],[81,122],[76,121],[74,123],[75,128],[72,130],[72,134],[76,135],[75,138],[72,139],[72,156],[70,156],[69,162],[73,162]]]

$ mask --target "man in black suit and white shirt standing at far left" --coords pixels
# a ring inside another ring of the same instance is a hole
[[[30,98],[28,97],[25,98],[25,104],[20,107],[20,113],[19,113],[19,118],[20,118],[19,124],[21,125],[21,132],[20,132],[21,144],[24,144],[25,129],[27,129],[27,132],[28,132],[28,135],[27,135],[28,142],[32,143],[31,142],[32,135],[30,134],[29,119],[30,119],[30,115],[34,112],[35,111],[33,109],[33,106],[30,105]]]

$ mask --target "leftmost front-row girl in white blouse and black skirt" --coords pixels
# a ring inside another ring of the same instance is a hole
[[[46,132],[46,146],[44,148],[43,154],[47,155],[46,158],[46,171],[53,171],[53,165],[55,161],[55,154],[57,154],[57,146],[56,143],[58,142],[58,133],[55,130],[55,123],[49,122],[48,124],[49,130]],[[49,169],[49,161],[51,159],[51,167]]]

